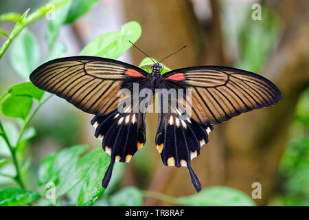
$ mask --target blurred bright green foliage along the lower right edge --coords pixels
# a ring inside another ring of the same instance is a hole
[[[290,128],[291,139],[282,155],[275,206],[309,206],[309,89],[302,94]]]

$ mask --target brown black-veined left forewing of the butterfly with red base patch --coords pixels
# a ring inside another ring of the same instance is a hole
[[[135,77],[133,77],[135,76]],[[65,98],[78,109],[95,115],[117,108],[118,91],[126,82],[146,80],[146,72],[107,58],[76,56],[49,61],[32,72],[36,87]]]

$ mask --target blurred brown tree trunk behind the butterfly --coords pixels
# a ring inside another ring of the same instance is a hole
[[[262,75],[281,89],[284,98],[275,107],[245,113],[224,125],[214,126],[209,143],[192,161],[203,187],[226,185],[251,195],[253,182],[260,182],[262,199],[255,200],[259,205],[265,205],[271,195],[297,100],[309,85],[308,1],[271,3],[282,14],[286,29],[282,43],[266,63]],[[213,18],[207,30],[198,23],[191,1],[126,0],[124,7],[128,21],[141,23],[143,34],[137,45],[148,55],[159,59],[182,45],[188,46],[164,62],[168,67],[229,65],[222,43],[219,1],[211,1]],[[286,11],[288,21],[284,19]],[[135,64],[144,58],[137,50],[131,52]],[[155,151],[156,120],[148,118],[148,131],[152,135],[148,135],[148,148],[152,148],[151,151]],[[185,168],[163,166],[159,153],[153,154],[157,157],[158,168],[150,190],[172,196],[195,193]],[[146,200],[146,205],[166,204]]]

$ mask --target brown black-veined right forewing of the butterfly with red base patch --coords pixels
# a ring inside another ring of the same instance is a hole
[[[173,80],[177,74],[183,74],[181,80]],[[272,106],[282,98],[279,89],[268,79],[230,67],[177,69],[163,74],[163,78],[170,84],[192,90],[192,118],[205,125]]]

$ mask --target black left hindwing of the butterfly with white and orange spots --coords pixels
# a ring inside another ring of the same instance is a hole
[[[130,162],[130,159],[146,142],[144,113],[119,113],[115,110],[108,115],[96,115],[91,124],[95,126],[95,137],[102,142],[111,163],[102,180],[107,188],[115,162]]]

